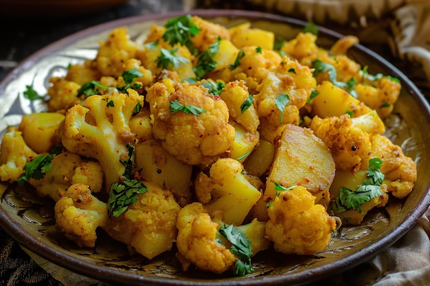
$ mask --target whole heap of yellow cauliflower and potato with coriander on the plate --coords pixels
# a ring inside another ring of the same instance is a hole
[[[400,81],[325,49],[309,23],[293,39],[199,16],[126,27],[92,60],[24,96],[1,141],[0,178],[55,202],[56,228],[82,248],[97,231],[183,271],[242,276],[251,260],[324,250],[389,198],[405,198],[416,164],[385,136]]]

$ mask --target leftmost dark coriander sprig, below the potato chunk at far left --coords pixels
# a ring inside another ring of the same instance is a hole
[[[18,179],[18,184],[21,186],[24,181],[34,178],[34,180],[41,180],[45,174],[52,170],[52,159],[54,156],[63,152],[63,145],[57,145],[47,155],[39,155],[34,157],[30,162],[25,163],[24,172]]]

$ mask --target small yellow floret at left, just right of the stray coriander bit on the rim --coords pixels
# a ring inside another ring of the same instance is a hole
[[[65,112],[71,106],[81,103],[78,97],[80,84],[56,77],[50,78],[49,84],[51,84],[47,91],[49,112]]]

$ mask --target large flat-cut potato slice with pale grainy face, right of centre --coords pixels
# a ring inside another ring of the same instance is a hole
[[[315,202],[330,200],[328,188],[335,178],[335,161],[330,150],[312,130],[287,124],[267,179],[264,196],[275,198],[274,182],[283,187],[306,187]]]

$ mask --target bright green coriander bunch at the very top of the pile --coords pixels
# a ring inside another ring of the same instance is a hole
[[[198,50],[192,45],[191,38],[200,32],[199,27],[191,21],[190,15],[184,15],[169,19],[166,22],[166,31],[163,34],[163,40],[166,40],[171,46],[177,43],[188,47],[191,53],[196,56]]]

